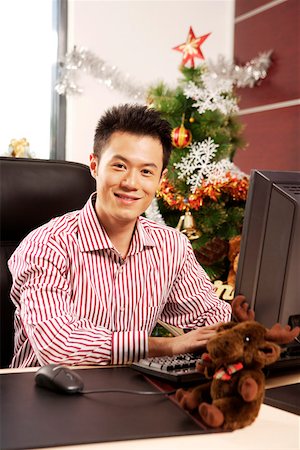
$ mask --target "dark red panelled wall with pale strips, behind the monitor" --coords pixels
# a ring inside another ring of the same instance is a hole
[[[271,7],[235,23],[234,58],[240,64],[274,51],[260,86],[238,91],[241,112],[253,108],[251,114],[241,115],[248,147],[234,158],[246,173],[253,168],[300,170],[300,0],[236,0],[235,15],[265,3]],[[281,103],[280,108],[271,109],[273,103]],[[263,112],[255,109],[260,106]]]

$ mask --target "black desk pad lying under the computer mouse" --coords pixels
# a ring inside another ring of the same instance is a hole
[[[1,449],[51,447],[210,432],[167,396],[57,394],[35,373],[1,375]],[[157,390],[127,367],[80,370],[85,389]]]

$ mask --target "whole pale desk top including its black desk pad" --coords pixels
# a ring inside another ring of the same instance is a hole
[[[30,438],[30,433],[33,433],[34,436],[44,433],[44,437],[50,437],[52,441],[56,436],[55,443],[50,444],[50,442],[42,440],[40,448],[47,447],[48,450],[50,448],[54,450],[62,448],[67,450],[185,450],[187,448],[214,449],[220,447],[225,450],[240,450],[241,448],[244,450],[296,450],[299,448],[299,416],[265,404],[261,406],[256,421],[249,427],[233,433],[206,434],[205,432],[203,434],[201,429],[194,428],[195,424],[190,417],[170,400],[161,397],[147,397],[146,399],[137,397],[132,402],[125,396],[122,397],[121,394],[115,398],[107,397],[106,400],[103,395],[97,396],[96,394],[77,399],[59,396],[34,386],[35,370],[32,368],[0,370],[2,389],[0,431],[3,433],[6,430],[2,439],[7,439],[7,430],[10,428],[16,433],[16,440],[21,440],[22,449],[25,448],[25,438]],[[116,370],[121,370],[121,372],[116,375]],[[86,388],[100,387],[100,381],[103,387],[120,387],[121,374],[123,388],[149,390],[149,385],[145,384],[143,378],[140,378],[140,374],[135,372],[134,379],[130,381],[126,372],[128,372],[127,368],[99,368],[82,370],[80,374],[84,378]],[[101,375],[102,373],[103,375]],[[18,374],[22,377],[17,377]],[[12,376],[7,377],[7,375]],[[267,386],[276,387],[299,382],[300,374],[288,374],[267,380]],[[5,394],[4,397],[3,394]],[[11,398],[14,398],[13,402],[9,401]],[[81,403],[82,401],[84,403]],[[149,408],[145,408],[145,401],[148,402]],[[33,420],[31,415],[32,408],[36,407],[36,402],[39,403],[41,414],[41,417],[37,417],[37,421]],[[93,410],[93,415],[88,411],[90,409]],[[153,413],[153,409],[155,409],[155,413]],[[103,412],[105,412],[104,418]],[[116,416],[116,414],[118,415]],[[88,421],[87,418],[90,416],[92,418]],[[147,420],[144,420],[145,418]],[[126,424],[129,422],[131,427],[133,421],[135,421],[134,428],[127,429]],[[140,429],[140,424],[144,428]],[[62,442],[62,437],[66,437],[65,429],[70,426],[73,428],[70,445],[65,447],[67,441],[64,439]],[[107,426],[111,428],[111,431],[114,426],[116,435],[121,430],[124,436],[119,435],[115,437],[114,441],[109,442],[110,436],[106,435],[105,442],[102,431],[108,433],[108,429],[105,431]],[[180,431],[178,426],[181,427]],[[55,427],[62,435],[57,437],[58,433]],[[100,439],[97,437],[98,429],[101,432]],[[84,442],[82,432],[87,431],[89,440],[85,441],[86,443],[72,445],[74,436],[81,438],[81,441]],[[153,438],[154,435],[157,437]],[[28,446],[28,444],[26,445]]]

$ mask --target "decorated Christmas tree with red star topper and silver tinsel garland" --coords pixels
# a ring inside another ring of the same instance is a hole
[[[172,125],[174,150],[167,178],[146,215],[186,233],[211,280],[219,282],[226,281],[229,258],[236,253],[248,190],[248,177],[232,162],[244,147],[234,87],[252,88],[264,79],[272,51],[244,66],[220,56],[215,64],[201,61],[195,67],[195,58],[204,60],[201,45],[209,36],[196,37],[190,27],[186,42],[174,48],[183,53],[175,89],[165,83],[144,87],[115,64],[76,46],[61,63],[55,89],[60,95],[81,94],[77,77],[85,72],[161,111]]]

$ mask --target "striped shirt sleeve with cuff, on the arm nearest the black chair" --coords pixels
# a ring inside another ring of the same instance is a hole
[[[67,261],[51,239],[25,239],[9,261],[11,297],[39,364],[120,364],[144,357],[144,332],[112,332],[77,316]]]

